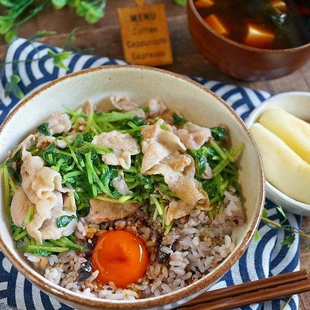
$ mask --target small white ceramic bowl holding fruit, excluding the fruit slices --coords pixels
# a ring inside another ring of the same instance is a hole
[[[279,93],[265,100],[261,106],[254,109],[248,116],[246,124],[250,127],[258,120],[260,115],[270,107],[280,107],[294,116],[310,122],[310,93],[287,92]],[[310,205],[298,202],[283,194],[275,186],[266,181],[266,197],[285,210],[299,215],[310,216]]]

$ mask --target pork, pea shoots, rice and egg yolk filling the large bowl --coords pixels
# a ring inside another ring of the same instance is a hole
[[[1,165],[17,247],[45,278],[99,298],[166,294],[213,270],[243,224],[225,125],[122,95],[55,112]],[[207,120],[206,120],[207,124]]]

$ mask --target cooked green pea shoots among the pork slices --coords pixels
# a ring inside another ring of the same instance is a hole
[[[146,212],[153,213],[153,220],[159,220],[165,235],[169,233],[173,221],[169,225],[165,222],[165,207],[172,199],[178,199],[165,183],[162,175],[142,175],[142,153],[131,156],[129,169],[122,169],[124,181],[130,190],[122,195],[112,180],[119,175],[118,166],[107,165],[102,161],[102,155],[113,152],[111,148],[104,148],[93,144],[93,137],[102,132],[117,130],[130,134],[140,145],[142,140],[141,129],[147,125],[143,118],[134,115],[134,111],[120,112],[99,112],[93,110],[89,114],[83,113],[82,109],[76,111],[65,108],[72,128],[77,135],[74,140],[68,139],[70,133],[64,132],[56,135],[55,139],[45,148],[38,149],[36,142],[28,149],[32,156],[40,156],[44,159],[45,165],[62,176],[62,186],[74,189],[73,195],[77,206],[77,217],[84,217],[89,214],[92,198],[113,202],[113,203],[135,203],[146,205]],[[79,129],[80,121],[83,120],[84,129]],[[187,121],[177,114],[173,114],[173,122],[183,125]],[[162,129],[166,130],[165,126]],[[50,136],[48,123],[39,124],[37,130],[45,136]],[[210,219],[224,210],[224,192],[231,185],[238,190],[238,169],[235,166],[235,158],[244,147],[241,143],[235,149],[227,150],[221,145],[227,132],[222,127],[211,128],[214,140],[203,145],[199,150],[188,150],[187,153],[194,158],[196,165],[196,178],[202,183],[203,189],[208,193],[213,210],[209,212]],[[58,148],[58,142],[64,143],[65,147]],[[11,164],[16,163],[16,169]],[[11,219],[13,238],[18,248],[24,252],[37,255],[50,255],[61,253],[72,249],[82,251],[83,246],[79,244],[75,236],[62,236],[58,240],[44,240],[37,244],[25,229],[17,227],[10,216],[10,203],[18,186],[21,185],[21,151],[3,163],[0,167],[0,174],[4,184],[4,206]],[[210,166],[212,176],[206,179],[203,174],[207,166]],[[164,197],[165,198],[164,198]],[[27,225],[33,217],[35,206],[31,206],[24,219]],[[66,227],[75,216],[62,216],[56,219],[58,228]]]

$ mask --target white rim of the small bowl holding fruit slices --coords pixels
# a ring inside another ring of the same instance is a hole
[[[252,124],[254,124],[257,119],[262,115],[262,113],[268,109],[268,106],[272,104],[274,100],[277,100],[278,98],[287,98],[287,97],[307,97],[310,100],[310,92],[304,92],[304,91],[291,91],[291,92],[284,92],[284,93],[277,93],[268,99],[264,100],[260,106],[253,109],[250,114],[248,115],[248,118],[246,119],[245,123],[248,127],[250,127]],[[266,195],[267,198],[270,197],[269,193],[272,193],[277,198],[285,201],[286,203],[289,203],[290,205],[297,206],[298,208],[301,208],[300,211],[305,211],[307,214],[309,214],[310,204],[299,202],[298,200],[295,200],[294,198],[291,198],[290,196],[285,195],[282,193],[277,187],[273,186],[271,183],[269,183],[267,180],[265,180],[266,185]],[[270,200],[273,200],[272,198],[269,198]],[[293,211],[294,212],[294,211]]]

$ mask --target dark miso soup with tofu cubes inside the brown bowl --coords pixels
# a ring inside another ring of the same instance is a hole
[[[290,48],[310,42],[310,0],[194,0],[217,33],[251,47]]]

